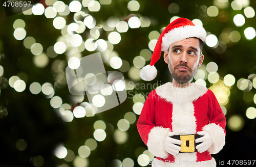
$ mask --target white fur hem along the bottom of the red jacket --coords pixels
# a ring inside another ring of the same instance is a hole
[[[152,167],[178,167],[178,166],[186,166],[186,167],[215,167],[216,166],[216,161],[214,158],[211,160],[206,160],[206,161],[192,161],[192,160],[182,160],[178,161],[175,160],[174,162],[164,162],[162,160],[159,160],[157,158],[154,158],[153,161],[149,163],[152,165]]]

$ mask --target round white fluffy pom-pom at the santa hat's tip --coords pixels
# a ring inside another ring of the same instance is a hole
[[[150,81],[155,79],[156,76],[157,76],[157,69],[154,65],[153,66],[146,65],[140,70],[140,77],[143,80]]]

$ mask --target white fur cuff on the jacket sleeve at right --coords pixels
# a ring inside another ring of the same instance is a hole
[[[210,154],[217,154],[221,151],[223,146],[225,145],[225,133],[220,125],[216,125],[215,123],[211,123],[205,125],[202,128],[203,131],[207,131],[210,133],[212,146],[208,149]]]

